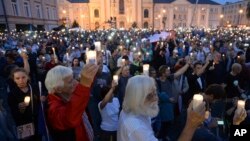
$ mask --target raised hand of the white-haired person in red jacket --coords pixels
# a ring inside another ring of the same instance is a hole
[[[95,75],[99,69],[99,66],[95,64],[86,64],[81,71],[80,84],[86,87],[90,87],[94,81]]]

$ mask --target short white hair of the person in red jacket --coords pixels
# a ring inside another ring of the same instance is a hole
[[[71,68],[65,66],[56,66],[48,71],[45,79],[45,86],[50,94],[53,94],[56,87],[63,87],[63,79],[67,76],[73,75]]]

